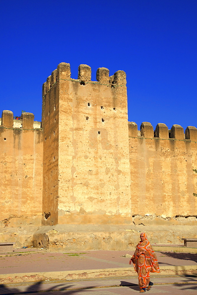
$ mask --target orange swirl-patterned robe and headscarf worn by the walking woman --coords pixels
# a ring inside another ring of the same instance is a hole
[[[150,282],[150,272],[159,273],[159,264],[157,256],[150,245],[150,242],[146,238],[145,232],[142,232],[145,237],[144,242],[139,242],[136,246],[136,250],[131,260],[134,265],[134,270],[137,271],[139,288],[146,288]],[[140,254],[139,258],[137,253],[141,250],[146,251],[145,254]]]

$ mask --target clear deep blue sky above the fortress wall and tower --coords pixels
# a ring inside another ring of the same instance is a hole
[[[42,83],[60,62],[127,73],[128,115],[197,127],[197,1],[0,1],[0,113],[41,120]],[[1,114],[0,114],[1,116]]]

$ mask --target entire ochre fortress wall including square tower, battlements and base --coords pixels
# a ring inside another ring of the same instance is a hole
[[[2,239],[124,250],[139,231],[157,243],[197,237],[196,127],[138,130],[128,122],[125,72],[98,68],[96,79],[88,65],[73,79],[60,63],[42,87],[41,126],[31,113],[16,122],[3,111]]]

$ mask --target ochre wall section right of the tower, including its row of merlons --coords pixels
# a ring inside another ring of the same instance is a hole
[[[188,135],[190,134],[190,135]],[[135,224],[197,224],[197,129],[129,122],[132,212]],[[136,138],[137,137],[137,138]],[[148,138],[148,139],[145,139]],[[196,142],[195,142],[196,140]]]

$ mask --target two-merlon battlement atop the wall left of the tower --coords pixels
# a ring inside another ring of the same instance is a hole
[[[13,112],[4,110],[0,118],[0,127],[5,129],[21,129],[21,130],[34,130],[41,128],[41,122],[34,121],[34,114],[22,113],[21,119],[16,120],[13,117]]]

